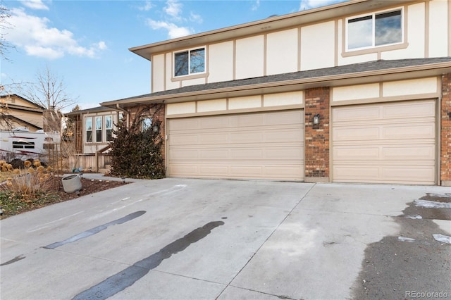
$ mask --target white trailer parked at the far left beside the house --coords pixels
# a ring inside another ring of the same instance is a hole
[[[53,144],[59,144],[58,133],[39,130],[30,132],[27,128],[0,130],[0,159],[11,161],[12,158],[44,158],[47,149]]]

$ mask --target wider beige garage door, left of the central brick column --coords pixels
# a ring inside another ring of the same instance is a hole
[[[304,180],[304,112],[168,120],[171,177]]]

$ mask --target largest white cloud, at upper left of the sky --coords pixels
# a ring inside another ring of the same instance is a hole
[[[50,27],[50,20],[27,15],[21,9],[12,9],[11,29],[6,32],[6,40],[25,49],[30,56],[56,59],[66,54],[93,58],[99,51],[106,49],[104,42],[92,46],[80,46],[69,30]]]

